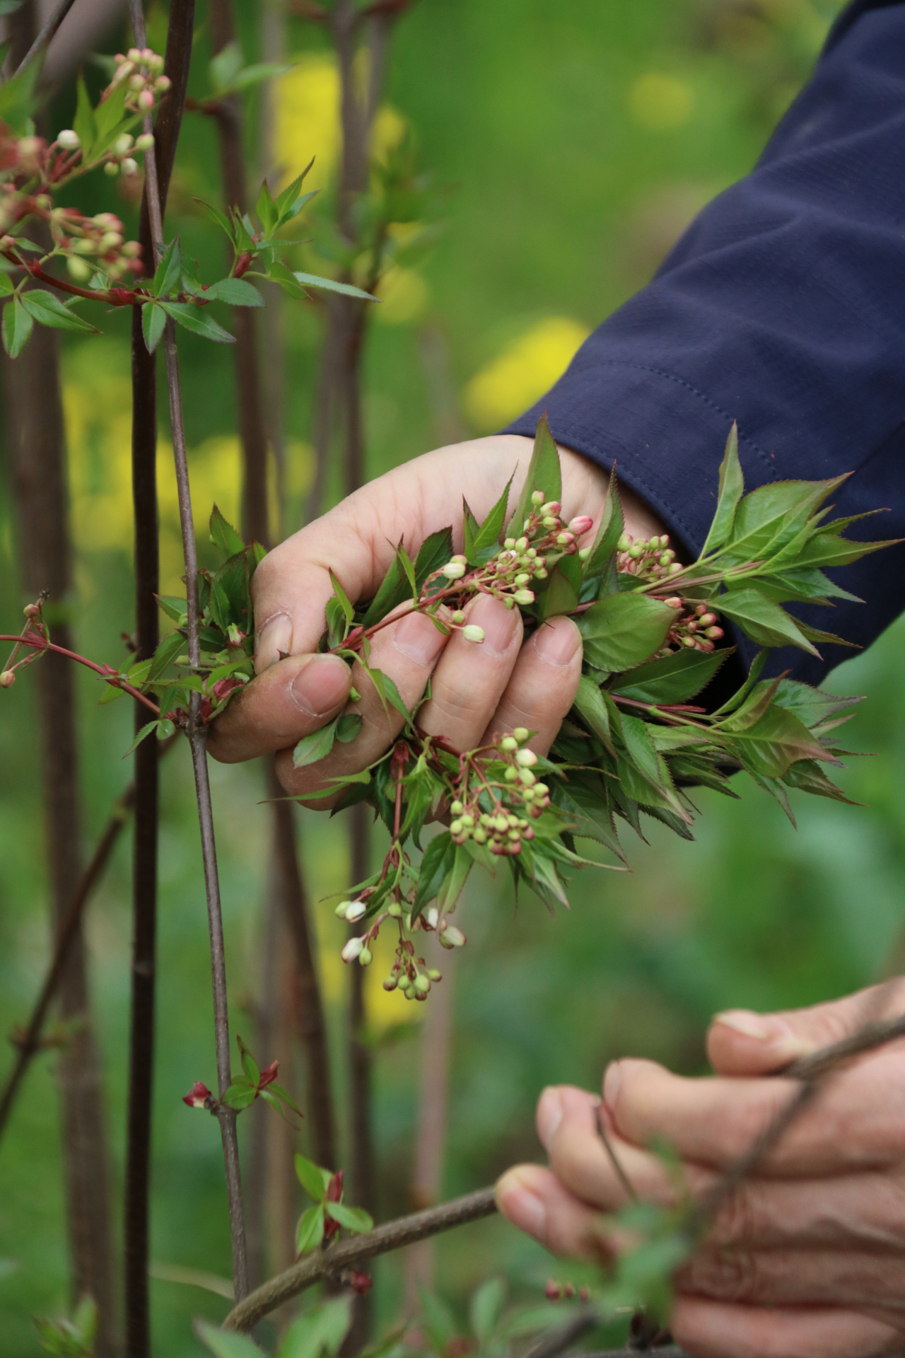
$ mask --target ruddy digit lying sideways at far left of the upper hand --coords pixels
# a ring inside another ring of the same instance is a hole
[[[350,683],[338,656],[292,656],[236,694],[212,725],[208,748],[236,763],[292,747],[342,712]]]

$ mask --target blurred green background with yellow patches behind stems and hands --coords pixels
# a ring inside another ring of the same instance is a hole
[[[643,285],[695,210],[744,175],[807,76],[837,7],[815,0],[419,0],[398,24],[377,140],[414,134],[433,172],[445,230],[418,269],[387,280],[366,356],[368,470],[377,475],[448,436],[498,428],[539,395],[582,337]],[[248,58],[261,49],[261,7],[240,5]],[[159,27],[164,15],[152,23]],[[202,10],[204,19],[204,10]],[[115,37],[107,50],[115,49]],[[288,24],[297,58],[278,90],[278,152],[286,168],[317,153],[312,179],[330,186],[336,77],[322,34]],[[206,91],[206,33],[193,91]],[[72,91],[57,99],[71,121]],[[255,159],[255,118],[250,107]],[[218,198],[214,133],[187,115],[170,232],[216,276],[221,242],[194,197]],[[85,200],[87,201],[87,200]],[[134,202],[110,181],[91,185],[92,210]],[[320,318],[288,304],[285,394],[289,439],[285,521],[300,523],[311,482],[311,407]],[[132,626],[129,520],[129,352],[122,316],[106,335],[64,352],[81,648],[117,661]],[[195,501],[237,512],[229,352],[180,335]],[[166,430],[166,418],[161,429]],[[161,449],[164,588],[179,574],[172,478]],[[336,477],[338,483],[338,477]],[[335,488],[334,488],[335,493]],[[22,596],[8,486],[0,498],[0,604],[15,626]],[[199,513],[199,519],[201,519]],[[201,535],[202,539],[206,534]],[[864,694],[840,779],[868,809],[795,799],[798,831],[752,785],[741,801],[700,794],[697,841],[657,824],[630,845],[631,875],[588,872],[571,911],[555,921],[506,883],[474,880],[463,904],[469,945],[448,961],[453,1040],[444,1192],[490,1183],[517,1158],[539,1157],[532,1109],[551,1081],[596,1086],[615,1055],[649,1055],[703,1069],[708,1016],[729,1005],[809,1004],[882,975],[898,955],[905,857],[905,694],[897,667],[905,627],[837,669],[830,686]],[[132,713],[99,710],[80,674],[85,843],[128,782]],[[0,720],[0,1027],[22,1020],[47,956],[37,739],[30,684],[3,695]],[[233,1028],[255,1031],[262,975],[267,811],[258,767],[213,769]],[[206,917],[187,751],[163,775],[160,1017],[156,1085],[153,1258],[229,1272],[220,1143],[213,1122],[180,1103],[197,1078],[214,1084]],[[300,818],[312,898],[346,881],[341,820]],[[379,849],[379,842],[376,843]],[[317,904],[324,986],[342,1080],[339,940]],[[129,963],[129,846],[123,842],[88,911],[92,987],[104,1054],[117,1172],[122,1167]],[[373,983],[380,1213],[407,1210],[429,1006],[406,1006]],[[412,1009],[417,1010],[412,1014]],[[284,1040],[284,1039],[281,1039]],[[280,1047],[285,1082],[300,1088],[292,1043]],[[273,1052],[261,1052],[270,1059]],[[4,1057],[4,1065],[9,1057]],[[0,1145],[0,1355],[38,1351],[30,1317],[66,1308],[60,1138],[53,1054],[33,1067]],[[296,1069],[293,1069],[293,1065]],[[247,1128],[246,1128],[247,1131]],[[247,1139],[247,1137],[246,1137]],[[275,1138],[280,1139],[278,1135]],[[303,1133],[301,1145],[305,1143]],[[288,1154],[288,1148],[282,1146]],[[271,1198],[274,1196],[271,1190]],[[275,1195],[280,1198],[280,1194]],[[285,1195],[284,1195],[285,1198]],[[273,1203],[271,1203],[273,1206]],[[285,1211],[300,1203],[285,1198]],[[271,1221],[280,1215],[271,1214]],[[273,1225],[277,1232],[277,1226]],[[278,1248],[271,1248],[271,1266]],[[461,1308],[491,1272],[516,1300],[540,1300],[563,1270],[499,1221],[438,1245],[437,1287]],[[381,1325],[396,1317],[402,1264],[379,1264]],[[153,1283],[155,1353],[198,1354],[194,1315],[227,1302],[197,1287]]]

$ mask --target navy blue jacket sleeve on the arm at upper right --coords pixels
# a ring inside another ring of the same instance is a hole
[[[749,490],[852,473],[836,513],[890,512],[849,536],[905,536],[905,3],[843,12],[753,172],[507,432],[533,433],[544,410],[559,443],[617,462],[689,553],[733,420]],[[791,611],[866,646],[905,610],[905,547],[836,579],[866,602]],[[753,649],[739,638],[739,659]],[[776,652],[771,671],[815,683],[851,655],[821,650]]]

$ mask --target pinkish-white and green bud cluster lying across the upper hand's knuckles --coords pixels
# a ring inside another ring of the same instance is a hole
[[[531,511],[522,523],[520,538],[506,538],[502,549],[479,570],[468,572],[468,559],[456,555],[446,562],[438,574],[449,581],[461,580],[463,592],[488,593],[494,599],[501,599],[507,608],[516,604],[528,606],[535,602],[535,591],[531,588],[536,581],[545,580],[560,557],[578,555],[588,559],[590,547],[578,546],[578,538],[593,527],[593,519],[588,515],[578,515],[567,524],[560,513],[562,505],[558,500],[545,502],[544,492],[535,490],[531,497]],[[465,579],[467,576],[467,579]],[[464,603],[464,599],[463,599]],[[461,626],[465,615],[461,608],[452,612],[453,626]],[[480,636],[469,636],[480,633]],[[467,625],[463,634],[468,641],[483,641],[484,634],[480,627]]]

